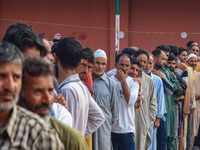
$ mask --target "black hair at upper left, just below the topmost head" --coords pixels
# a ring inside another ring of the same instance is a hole
[[[40,51],[40,56],[46,55],[42,38],[31,30],[18,29],[15,35],[8,34],[5,40],[15,44],[22,51],[25,47],[36,47]]]

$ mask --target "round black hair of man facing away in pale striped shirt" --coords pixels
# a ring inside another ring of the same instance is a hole
[[[57,44],[56,55],[64,68],[77,68],[82,54],[81,43],[73,37],[64,37]]]

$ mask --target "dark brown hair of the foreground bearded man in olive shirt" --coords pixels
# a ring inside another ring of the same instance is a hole
[[[49,63],[45,58],[27,56],[24,61],[22,85],[24,85],[26,80],[28,80],[26,79],[25,74],[34,77],[46,75],[53,76],[53,71],[53,64]]]

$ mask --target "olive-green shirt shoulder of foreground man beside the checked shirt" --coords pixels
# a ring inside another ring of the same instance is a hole
[[[72,149],[73,147],[77,147],[78,149],[87,149],[85,139],[79,131],[56,120],[53,117],[50,117],[49,121],[58,133],[61,141],[65,146],[65,149]]]

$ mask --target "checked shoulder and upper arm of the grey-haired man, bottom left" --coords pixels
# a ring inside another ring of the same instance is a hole
[[[63,144],[50,124],[37,114],[20,106],[13,108],[7,133],[11,139],[16,137],[13,141],[16,145],[21,139],[25,143],[32,143],[31,147],[36,149],[63,149]],[[29,147],[30,145],[26,146]]]

